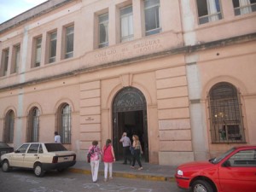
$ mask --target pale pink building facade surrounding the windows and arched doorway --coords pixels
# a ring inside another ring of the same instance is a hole
[[[177,165],[206,160],[237,143],[211,140],[208,93],[229,82],[241,96],[246,143],[255,144],[256,13],[234,15],[221,1],[223,19],[199,25],[196,1],[160,0],[162,32],[144,35],[143,1],[49,1],[0,25],[0,58],[20,44],[18,72],[0,77],[0,138],[9,109],[15,112],[17,148],[26,142],[27,115],[40,111],[39,141],[53,141],[61,103],[72,111],[72,142],[85,160],[91,141],[113,137],[113,99],[135,87],[147,102],[149,162]],[[120,43],[119,9],[133,6],[134,40]],[[37,13],[38,12],[38,13]],[[109,46],[97,49],[97,16],[109,14]],[[36,16],[32,16],[36,15]],[[14,24],[16,21],[16,24]],[[73,58],[63,59],[66,26],[74,26]],[[242,27],[241,27],[242,26]],[[54,63],[47,62],[48,34],[57,32]],[[42,36],[41,66],[32,67],[33,39]],[[3,61],[2,61],[3,63]],[[3,64],[2,64],[3,65]]]

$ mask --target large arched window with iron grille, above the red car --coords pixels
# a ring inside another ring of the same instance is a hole
[[[240,96],[229,83],[215,84],[209,92],[212,143],[244,143]]]

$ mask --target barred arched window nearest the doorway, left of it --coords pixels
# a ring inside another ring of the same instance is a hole
[[[57,131],[61,136],[61,143],[71,143],[71,108],[63,103],[57,113]]]

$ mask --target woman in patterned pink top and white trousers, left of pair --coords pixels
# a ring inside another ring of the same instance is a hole
[[[90,153],[90,169],[91,169],[91,177],[92,182],[96,183],[98,180],[98,172],[99,172],[99,165],[101,160],[101,148],[98,147],[98,142],[93,141],[91,143],[88,153]]]

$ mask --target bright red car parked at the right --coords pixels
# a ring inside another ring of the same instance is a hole
[[[230,148],[208,161],[177,167],[177,186],[193,192],[256,191],[256,146]]]

